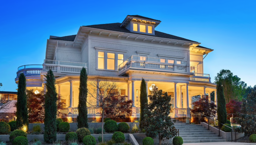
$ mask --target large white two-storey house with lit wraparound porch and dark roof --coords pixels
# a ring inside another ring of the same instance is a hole
[[[43,64],[18,68],[24,73],[27,89],[43,90],[43,75],[54,71],[57,92],[66,102],[63,113],[76,120],[78,115],[79,76],[82,67],[88,78],[115,80],[123,89],[121,95],[133,100],[133,121],[140,115],[140,83],[146,80],[171,94],[174,112],[172,117],[190,116],[194,96],[215,91],[209,74],[204,74],[203,59],[213,49],[201,43],[164,32],[156,31],[161,23],[139,15],[127,15],[121,23],[80,26],[76,35],[47,39]],[[160,25],[161,26],[161,25]],[[88,96],[89,97],[89,96]],[[90,97],[89,97],[90,98]],[[100,118],[100,111],[88,107],[91,120]]]

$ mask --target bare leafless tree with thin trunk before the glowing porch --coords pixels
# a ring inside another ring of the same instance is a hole
[[[101,135],[103,142],[103,120],[106,107],[113,107],[116,104],[109,105],[112,96],[118,95],[121,88],[114,79],[101,79],[99,76],[89,78],[88,94],[92,99],[87,99],[88,107],[101,110]],[[88,96],[88,97],[89,97]],[[116,102],[117,103],[117,102]]]

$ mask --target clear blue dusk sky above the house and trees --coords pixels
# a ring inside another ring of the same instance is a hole
[[[256,84],[256,1],[2,1],[0,5],[1,91],[16,91],[19,66],[42,64],[50,35],[74,35],[82,25],[122,22],[142,15],[161,24],[156,30],[198,41],[214,49],[204,59],[212,82],[229,69]]]

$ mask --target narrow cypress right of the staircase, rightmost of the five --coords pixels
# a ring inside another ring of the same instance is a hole
[[[222,124],[227,122],[226,100],[221,81],[217,82],[217,115],[218,122]],[[219,124],[220,128],[222,127],[222,124]]]

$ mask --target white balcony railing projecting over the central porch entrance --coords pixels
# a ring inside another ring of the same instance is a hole
[[[128,69],[164,71],[164,72],[189,72],[187,61],[161,59],[132,55],[118,66],[119,75]]]

